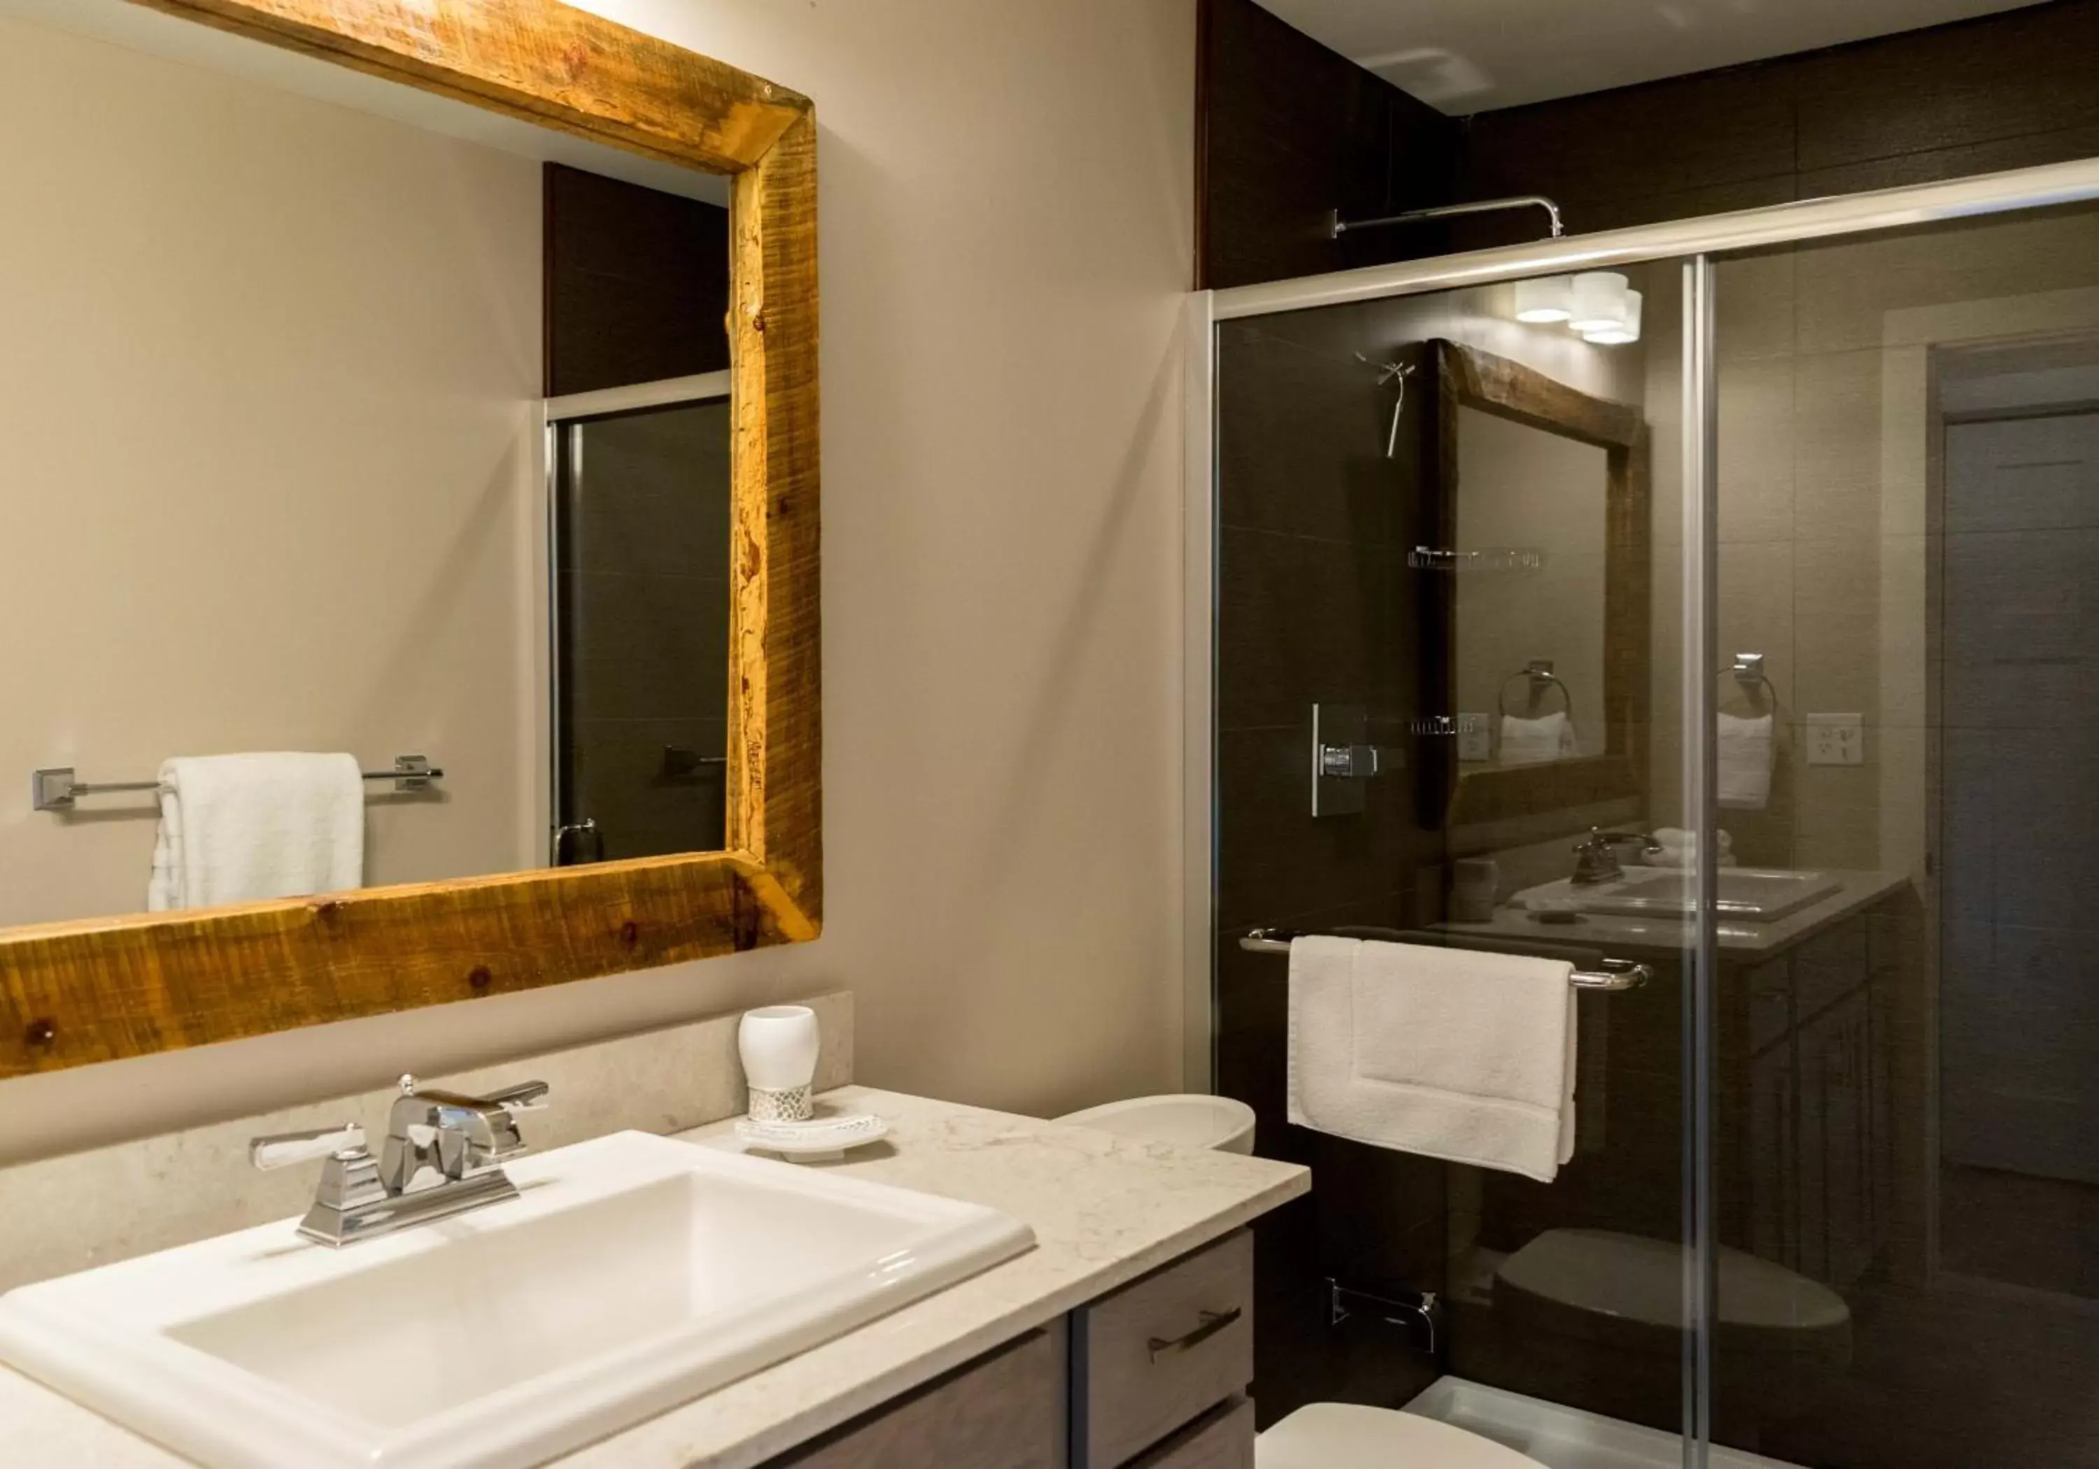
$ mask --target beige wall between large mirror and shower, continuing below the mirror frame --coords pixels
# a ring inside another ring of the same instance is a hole
[[[831,984],[873,1083],[1180,1083],[1192,0],[590,8],[819,105],[823,940],[0,1083],[0,1156]]]

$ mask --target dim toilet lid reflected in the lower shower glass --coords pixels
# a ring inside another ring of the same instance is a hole
[[[1507,1293],[1507,1295],[1505,1295]],[[1562,1330],[1683,1330],[1683,1247],[1612,1230],[1547,1230],[1501,1261],[1494,1303],[1560,1307]],[[1719,1251],[1719,1330],[1774,1345],[1849,1337],[1843,1297],[1807,1276],[1742,1251]]]

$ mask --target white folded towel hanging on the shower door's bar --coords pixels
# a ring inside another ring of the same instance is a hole
[[[1574,1154],[1574,965],[1291,942],[1289,1119],[1551,1184]]]

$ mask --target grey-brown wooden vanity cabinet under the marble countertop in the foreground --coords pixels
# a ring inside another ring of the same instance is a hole
[[[766,1469],[1253,1469],[1251,1381],[1238,1230]]]

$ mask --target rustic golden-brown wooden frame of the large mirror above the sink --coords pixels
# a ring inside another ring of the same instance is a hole
[[[726,852],[0,932],[0,1077],[817,936],[817,115],[556,0],[136,0],[733,174]]]

